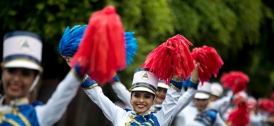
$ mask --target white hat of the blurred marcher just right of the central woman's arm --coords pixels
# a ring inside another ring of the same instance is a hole
[[[200,82],[197,87],[197,92],[194,95],[195,99],[209,99],[211,94],[211,83],[204,82],[203,85]]]

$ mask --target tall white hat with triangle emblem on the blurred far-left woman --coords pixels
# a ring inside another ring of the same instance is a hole
[[[41,56],[42,42],[38,34],[13,31],[4,36],[2,67],[22,67],[41,72]]]

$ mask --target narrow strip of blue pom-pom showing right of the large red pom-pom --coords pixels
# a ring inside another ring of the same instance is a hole
[[[129,66],[133,62],[133,56],[136,55],[138,45],[136,38],[133,36],[133,31],[126,31],[124,34],[126,38],[126,66]]]

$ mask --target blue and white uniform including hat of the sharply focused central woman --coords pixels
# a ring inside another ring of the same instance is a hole
[[[149,77],[143,80],[138,80],[138,78],[144,78],[144,76]],[[154,73],[151,73],[148,69],[137,69],[133,77],[133,86],[131,91],[146,91],[156,94],[157,81]],[[167,90],[166,99],[163,102],[162,109],[157,113],[153,113],[148,110],[145,113],[137,115],[133,110],[125,110],[113,104],[110,99],[105,97],[102,92],[101,87],[94,86],[96,82],[91,83],[90,87],[84,88],[84,91],[91,100],[96,103],[103,113],[109,119],[113,125],[168,125],[174,109],[177,105],[178,98],[181,97],[181,83],[171,83]],[[195,90],[189,90],[189,92],[195,92]],[[186,92],[187,93],[187,92]]]

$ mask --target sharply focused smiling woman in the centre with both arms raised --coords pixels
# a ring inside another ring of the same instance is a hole
[[[113,125],[168,125],[174,113],[178,97],[181,97],[181,83],[171,80],[167,97],[164,99],[162,109],[154,113],[150,111],[155,102],[159,78],[150,69],[136,69],[130,88],[131,109],[122,109],[105,97],[102,88],[94,80],[89,80],[89,87],[84,91],[91,100],[102,109],[104,115]],[[194,91],[194,90],[193,90]],[[188,94],[190,96],[190,94]],[[194,94],[193,94],[194,95]]]

